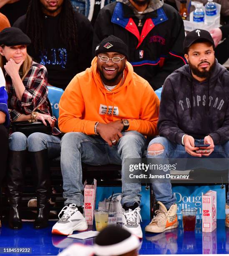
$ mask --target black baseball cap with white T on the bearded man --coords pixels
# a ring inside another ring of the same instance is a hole
[[[208,41],[212,44],[213,48],[215,48],[214,40],[211,37],[211,34],[204,29],[195,29],[189,32],[184,39],[183,50],[186,51],[192,44],[196,41]]]

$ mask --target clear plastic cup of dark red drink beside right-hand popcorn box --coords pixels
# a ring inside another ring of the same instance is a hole
[[[196,208],[182,209],[184,231],[194,231],[196,226]]]

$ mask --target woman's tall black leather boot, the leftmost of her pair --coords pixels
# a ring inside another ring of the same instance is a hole
[[[20,202],[23,189],[23,172],[27,151],[9,151],[9,168],[7,173],[8,191],[10,196],[10,228],[18,230],[22,228],[20,218]]]

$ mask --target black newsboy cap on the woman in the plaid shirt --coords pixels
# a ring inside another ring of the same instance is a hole
[[[4,28],[0,32],[0,45],[15,46],[15,45],[30,45],[30,38],[23,33],[20,28]]]

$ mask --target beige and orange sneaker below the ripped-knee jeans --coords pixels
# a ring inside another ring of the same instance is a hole
[[[145,231],[152,232],[152,233],[161,233],[165,230],[177,228],[178,221],[177,221],[177,205],[173,204],[169,210],[163,205],[162,202],[158,201],[159,210],[156,210],[156,216],[151,220]]]

